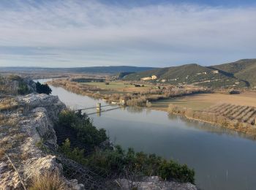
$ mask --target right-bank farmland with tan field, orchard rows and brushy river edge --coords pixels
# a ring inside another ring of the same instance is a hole
[[[153,102],[153,110],[256,135],[256,93],[197,94]]]

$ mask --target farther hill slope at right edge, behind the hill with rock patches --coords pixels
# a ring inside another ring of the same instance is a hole
[[[256,58],[241,59],[239,61],[211,66],[211,69],[218,69],[226,72],[227,75],[246,81],[249,86],[256,86]]]

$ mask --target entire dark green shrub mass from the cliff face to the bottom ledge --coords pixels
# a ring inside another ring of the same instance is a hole
[[[102,143],[108,141],[105,129],[96,129],[86,114],[62,111],[56,133],[57,137],[61,137],[58,138],[61,153],[80,164],[101,168],[110,178],[124,175],[129,170],[136,173],[138,178],[159,175],[166,180],[195,183],[195,172],[186,164],[167,161],[155,154],[135,153],[132,148],[124,151],[119,145],[102,147]]]

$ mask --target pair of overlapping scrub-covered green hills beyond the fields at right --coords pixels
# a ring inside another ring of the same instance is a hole
[[[146,80],[173,85],[195,84],[208,87],[256,86],[256,59],[244,59],[217,66],[186,64],[137,72],[124,76],[124,80]]]

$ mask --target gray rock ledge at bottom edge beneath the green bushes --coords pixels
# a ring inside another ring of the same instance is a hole
[[[175,181],[165,181],[158,176],[143,178],[141,181],[131,181],[127,179],[117,179],[116,183],[121,189],[138,189],[138,190],[196,190],[192,183],[178,183]]]

